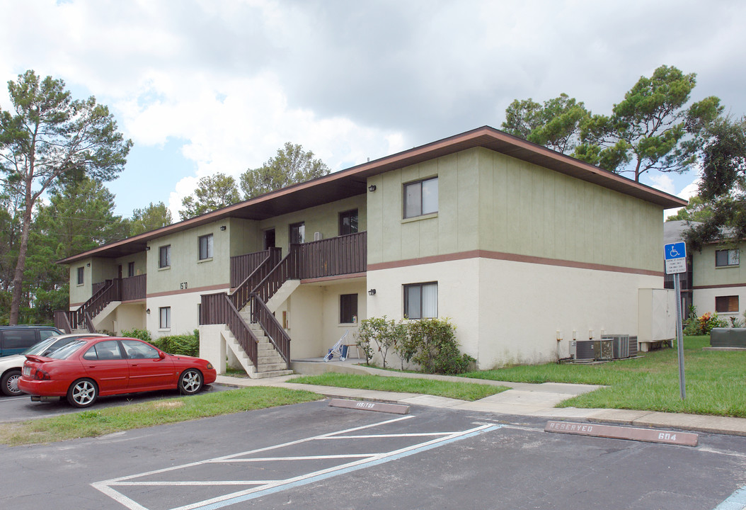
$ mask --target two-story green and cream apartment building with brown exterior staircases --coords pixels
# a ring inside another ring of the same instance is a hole
[[[59,324],[200,327],[222,367],[236,344],[257,366],[257,336],[289,363],[359,319],[449,317],[481,368],[551,361],[636,334],[663,210],[685,203],[477,128],[60,261]]]

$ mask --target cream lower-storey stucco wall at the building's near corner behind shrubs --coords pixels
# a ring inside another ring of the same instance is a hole
[[[462,351],[481,369],[554,361],[568,355],[573,335],[590,331],[636,335],[638,289],[663,284],[660,276],[469,258],[369,271],[369,317],[401,318],[402,285],[433,281],[438,316],[453,320]]]

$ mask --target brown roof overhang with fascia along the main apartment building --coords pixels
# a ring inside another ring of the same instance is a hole
[[[128,239],[104,244],[87,252],[72,255],[57,261],[57,264],[72,264],[84,258],[106,257],[118,258],[145,250],[148,241],[173,234],[188,228],[212,223],[227,218],[244,218],[248,220],[265,220],[269,217],[300,211],[327,202],[345,199],[349,196],[366,193],[367,180],[391,170],[419,164],[445,155],[451,155],[474,147],[484,147],[501,152],[521,161],[527,161],[540,167],[570,175],[580,180],[635,196],[647,202],[662,206],[664,209],[682,207],[686,200],[669,195],[653,187],[632,181],[629,178],[601,170],[592,164],[584,163],[570,156],[554,152],[535,143],[530,143],[504,131],[483,126],[462,134],[414,147],[395,155],[369,161],[346,170],[333,172],[310,181],[292,184],[281,190],[272,191],[254,199],[229,205],[226,208],[212,211],[201,216],[190,218],[179,223],[157,228],[156,230],[129,237]]]

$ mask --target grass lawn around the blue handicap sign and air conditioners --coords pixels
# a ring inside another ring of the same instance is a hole
[[[709,336],[684,338],[686,399],[679,393],[677,349],[597,365],[543,364],[462,374],[513,382],[607,385],[560,407],[619,408],[746,417],[746,352],[704,351]]]

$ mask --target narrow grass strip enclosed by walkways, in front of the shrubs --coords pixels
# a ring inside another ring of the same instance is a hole
[[[306,385],[336,386],[358,390],[397,391],[420,393],[459,400],[479,400],[509,390],[507,386],[480,385],[474,382],[448,382],[435,379],[413,379],[409,377],[372,376],[327,372],[320,376],[303,376],[292,379]]]

